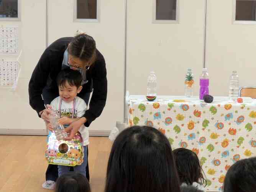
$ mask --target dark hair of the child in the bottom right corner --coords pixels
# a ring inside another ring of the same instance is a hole
[[[237,161],[228,169],[223,192],[256,192],[256,157]]]

